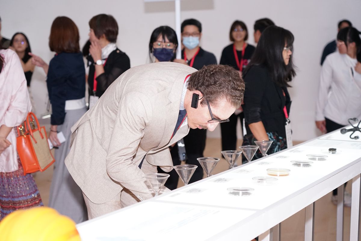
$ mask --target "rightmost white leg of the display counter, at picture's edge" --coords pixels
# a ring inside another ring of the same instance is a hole
[[[350,241],[360,240],[360,174],[352,178]]]

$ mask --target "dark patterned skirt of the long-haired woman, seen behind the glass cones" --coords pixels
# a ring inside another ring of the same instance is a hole
[[[268,138],[270,141],[273,141],[270,149],[268,149],[267,154],[273,154],[278,151],[282,151],[287,148],[286,138],[280,137],[277,132],[267,132]],[[253,136],[253,134],[247,134],[243,137],[242,145],[256,145],[254,141],[257,139]],[[255,156],[252,158],[252,161],[257,160],[262,157],[261,151],[257,150]],[[242,155],[242,163],[247,163],[247,159]]]

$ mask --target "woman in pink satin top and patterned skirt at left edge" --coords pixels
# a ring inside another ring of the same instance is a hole
[[[0,221],[17,209],[43,206],[38,187],[16,150],[16,126],[31,110],[26,79],[16,52],[0,46]]]

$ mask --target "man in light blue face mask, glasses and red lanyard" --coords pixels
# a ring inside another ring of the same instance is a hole
[[[217,64],[216,56],[200,47],[202,25],[198,20],[193,18],[184,20],[181,25],[181,33],[184,46],[182,59],[176,59],[174,62],[189,65],[197,70],[206,65]],[[183,138],[188,157],[187,163],[198,166],[190,183],[203,178],[203,168],[197,158],[203,157],[206,133],[206,130],[202,128],[191,129],[188,135]]]

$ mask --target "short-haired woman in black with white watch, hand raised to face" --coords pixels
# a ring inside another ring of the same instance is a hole
[[[93,107],[111,83],[130,68],[126,53],[117,48],[118,24],[113,16],[99,14],[89,21],[89,55],[87,57],[89,108]]]

